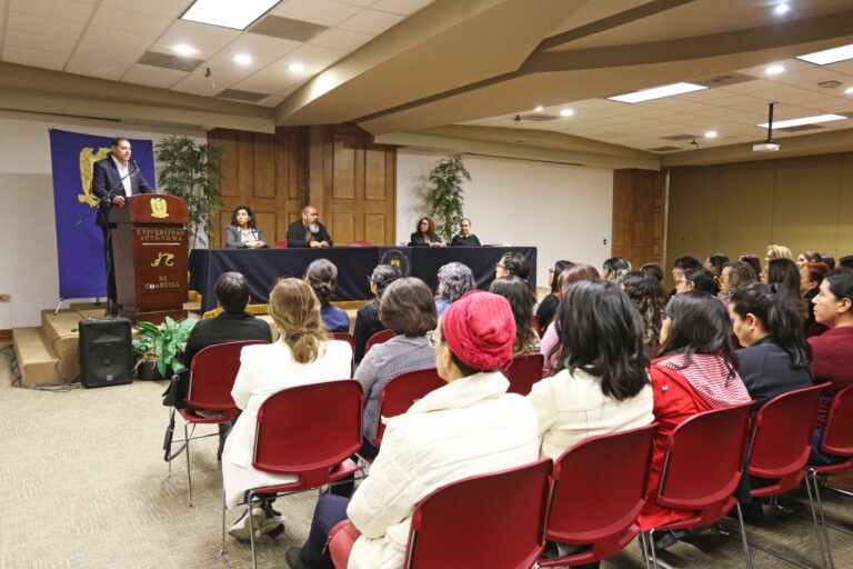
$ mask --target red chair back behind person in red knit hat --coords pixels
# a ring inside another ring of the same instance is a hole
[[[405,567],[521,569],[544,548],[551,460],[451,482],[412,512]]]

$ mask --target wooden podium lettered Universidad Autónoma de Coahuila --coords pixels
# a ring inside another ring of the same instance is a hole
[[[162,193],[128,198],[110,211],[119,315],[133,323],[185,318],[187,202]]]

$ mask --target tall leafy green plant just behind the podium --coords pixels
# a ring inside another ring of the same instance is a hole
[[[190,248],[198,238],[201,244],[209,244],[211,216],[222,203],[219,193],[222,150],[174,134],[158,142],[154,150],[160,164],[159,189],[187,202]]]

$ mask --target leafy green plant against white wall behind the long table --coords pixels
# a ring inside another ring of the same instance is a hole
[[[462,154],[450,154],[442,158],[430,170],[426,206],[430,217],[438,224],[438,233],[446,243],[453,238],[453,230],[462,219],[463,180],[471,181],[471,174],[465,169]]]

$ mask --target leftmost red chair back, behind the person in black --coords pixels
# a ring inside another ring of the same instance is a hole
[[[190,383],[187,388],[187,407],[223,411],[237,415],[231,398],[237,372],[240,371],[240,352],[243,347],[267,343],[261,340],[214,343],[199,350],[190,362]]]

